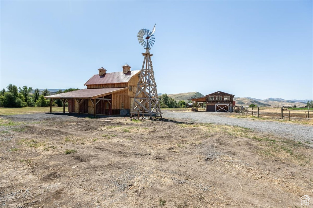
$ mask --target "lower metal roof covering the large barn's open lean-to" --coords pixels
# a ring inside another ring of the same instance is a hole
[[[123,91],[128,89],[124,88],[97,88],[97,89],[80,89],[76,91],[60,93],[45,96],[45,98],[57,98],[57,99],[95,99],[114,92]]]

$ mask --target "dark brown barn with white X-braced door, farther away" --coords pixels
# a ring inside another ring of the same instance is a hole
[[[233,94],[228,94],[222,91],[217,91],[200,98],[193,98],[191,99],[193,104],[192,111],[198,111],[199,103],[203,102],[206,111],[233,112],[233,107],[235,106],[233,98]]]

